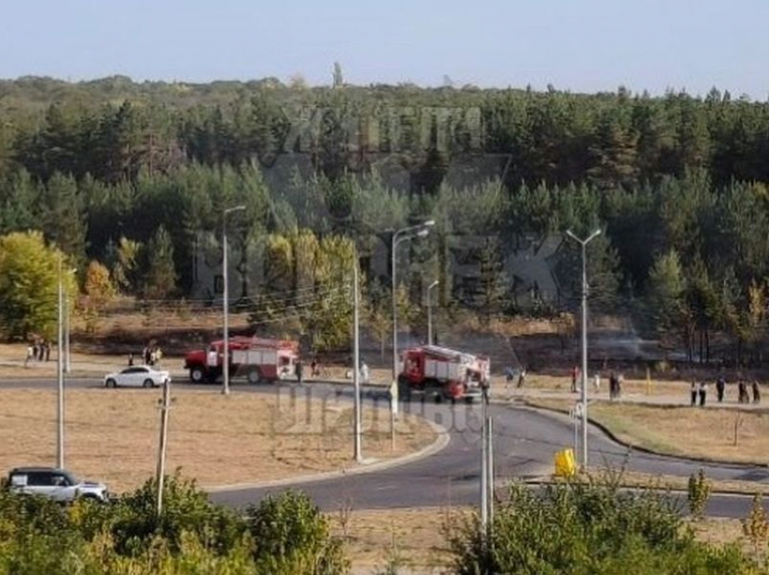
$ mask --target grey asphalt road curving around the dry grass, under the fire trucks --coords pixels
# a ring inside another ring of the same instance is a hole
[[[3,388],[52,387],[50,379],[0,381]],[[76,379],[68,388],[101,387],[100,380]],[[177,388],[200,388],[176,383]],[[109,390],[119,393],[118,390]],[[151,392],[148,390],[148,392]],[[280,393],[280,399],[303,398],[327,401],[347,401],[352,390],[347,386],[309,384],[272,386],[233,385],[233,393]],[[236,400],[236,397],[235,397]],[[381,389],[367,388],[364,400],[386,405]],[[436,405],[430,401],[402,404],[422,417],[445,427],[449,444],[440,452],[411,464],[366,474],[349,474],[331,479],[304,482],[293,486],[241,488],[211,495],[216,503],[242,508],[258,502],[267,494],[294,488],[307,492],[326,510],[351,506],[354,509],[384,509],[415,506],[475,504],[479,500],[479,429],[480,406],[456,404]],[[300,409],[300,407],[299,407]],[[525,407],[492,405],[494,417],[495,467],[498,480],[527,478],[552,472],[555,451],[574,442],[574,427],[565,417],[533,411]],[[650,455],[629,451],[614,443],[595,427],[589,430],[589,459],[593,464],[610,465],[647,474],[669,474],[688,477],[702,468],[712,479],[732,479],[769,483],[769,468],[754,465],[707,465],[679,457]],[[364,455],[366,445],[364,444]],[[714,516],[744,517],[751,498],[716,495],[711,498],[707,513]]]

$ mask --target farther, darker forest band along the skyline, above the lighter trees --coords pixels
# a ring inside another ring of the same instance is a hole
[[[585,95],[24,78],[0,81],[0,119],[0,174],[23,167],[43,180],[58,171],[118,182],[190,161],[267,167],[299,151],[329,177],[394,155],[412,191],[434,192],[468,155],[498,157],[491,175],[508,187],[632,186],[694,169],[719,185],[769,180],[769,104],[715,89],[652,98],[622,88]]]

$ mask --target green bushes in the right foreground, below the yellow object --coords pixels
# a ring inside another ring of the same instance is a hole
[[[487,536],[477,518],[452,538],[458,573],[576,575],[758,572],[736,545],[698,542],[678,504],[614,484],[512,484]]]

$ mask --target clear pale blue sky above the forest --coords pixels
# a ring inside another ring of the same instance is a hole
[[[0,0],[0,78],[769,96],[766,0]]]

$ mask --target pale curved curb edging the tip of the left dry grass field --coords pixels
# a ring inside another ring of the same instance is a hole
[[[249,489],[263,489],[265,487],[282,487],[285,485],[299,485],[315,483],[317,481],[327,481],[338,477],[347,477],[349,475],[362,475],[370,474],[375,471],[384,471],[387,469],[393,469],[394,467],[400,467],[425,459],[431,455],[435,455],[449,445],[451,441],[451,434],[444,427],[437,423],[424,419],[432,430],[436,433],[435,440],[429,446],[424,446],[419,451],[412,454],[396,457],[395,459],[387,459],[384,461],[376,461],[371,464],[363,464],[356,467],[350,467],[348,469],[341,469],[337,471],[327,471],[319,474],[301,475],[299,477],[287,477],[285,479],[275,479],[271,481],[262,481],[245,484],[232,484],[232,485],[214,485],[211,487],[204,487],[204,491],[209,494],[219,494],[224,492],[233,491],[246,491]]]

